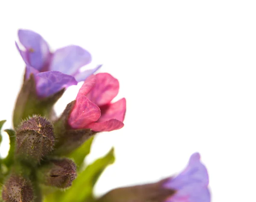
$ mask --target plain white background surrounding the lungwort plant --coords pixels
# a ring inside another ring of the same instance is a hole
[[[119,79],[117,99],[127,99],[125,127],[97,135],[87,159],[116,149],[116,162],[101,176],[97,194],[177,174],[198,151],[213,202],[255,200],[255,1],[0,2],[4,128],[12,125],[24,71],[15,49],[17,29],[31,29],[52,50],[86,48],[92,66],[103,64],[100,72]],[[58,114],[79,86],[59,100]]]

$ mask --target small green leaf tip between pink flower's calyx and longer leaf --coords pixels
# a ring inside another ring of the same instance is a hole
[[[77,148],[75,151],[73,151],[71,154],[69,154],[67,157],[70,159],[73,159],[74,162],[77,165],[77,168],[80,168],[81,165],[83,165],[84,158],[90,154],[90,148],[92,145],[94,137],[90,137],[87,139],[83,145],[81,145],[79,148]]]

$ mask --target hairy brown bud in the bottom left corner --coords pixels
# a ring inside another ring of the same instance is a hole
[[[3,185],[2,197],[6,202],[32,202],[34,193],[31,181],[12,174]]]

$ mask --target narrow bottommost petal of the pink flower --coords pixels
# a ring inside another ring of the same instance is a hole
[[[103,132],[103,131],[114,131],[122,128],[124,126],[123,122],[117,120],[117,119],[110,119],[105,122],[93,122],[89,125],[87,125],[87,128],[92,129],[96,132]]]

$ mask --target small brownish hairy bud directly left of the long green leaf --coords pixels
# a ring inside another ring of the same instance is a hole
[[[70,159],[51,159],[38,168],[38,179],[44,185],[67,188],[75,178],[76,164]]]

